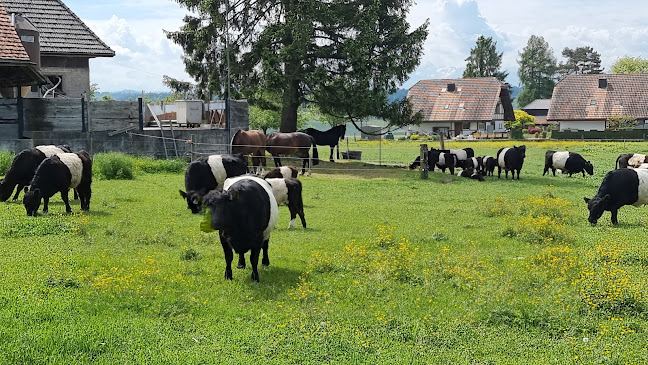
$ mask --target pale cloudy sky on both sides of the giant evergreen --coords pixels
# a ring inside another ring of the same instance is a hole
[[[182,26],[187,13],[169,0],[63,0],[116,53],[90,61],[99,91],[165,91],[162,76],[192,81],[182,50],[164,30]],[[565,47],[593,47],[605,72],[624,56],[648,58],[648,1],[643,0],[418,0],[412,29],[430,20],[421,64],[403,84],[461,77],[479,35],[493,37],[503,52],[507,82],[519,86],[517,60],[531,35],[542,36],[563,61]]]

